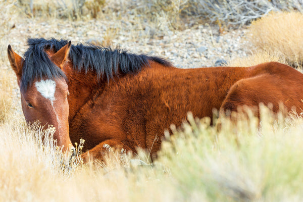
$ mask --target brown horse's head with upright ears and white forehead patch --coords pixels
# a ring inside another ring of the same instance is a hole
[[[67,60],[70,46],[71,43],[69,42],[52,57],[47,56],[59,71],[59,68],[62,68]],[[34,65],[38,63],[28,62],[26,58],[24,60],[13,51],[10,45],[8,46],[8,57],[17,76],[26,122],[30,124],[37,120],[43,127],[47,128],[48,125],[56,127],[54,139],[57,140],[57,145],[62,146],[64,151],[68,150],[74,155],[75,148],[72,146],[69,137],[69,105],[67,100],[69,91],[65,78],[62,76],[47,77],[47,74],[43,74],[43,68],[45,69],[45,67]],[[39,58],[36,58],[36,60],[39,60]],[[32,67],[28,67],[30,65]],[[26,75],[36,71],[35,68],[42,72],[40,76],[30,77],[30,75]],[[31,78],[30,82],[26,83],[25,80],[28,78]]]

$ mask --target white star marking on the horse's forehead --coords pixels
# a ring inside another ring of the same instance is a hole
[[[41,95],[51,101],[55,100],[56,82],[50,79],[37,81],[35,83]]]

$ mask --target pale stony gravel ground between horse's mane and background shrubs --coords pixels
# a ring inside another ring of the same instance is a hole
[[[11,22],[12,23],[12,22]],[[182,31],[160,32],[127,20],[68,22],[51,19],[23,19],[13,22],[8,43],[19,54],[26,50],[28,37],[64,38],[72,43],[112,41],[132,53],[167,58],[176,67],[213,67],[218,60],[232,60],[247,55],[246,29],[219,33],[219,28],[198,25]]]

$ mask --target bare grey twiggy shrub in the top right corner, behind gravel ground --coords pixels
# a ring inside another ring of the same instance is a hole
[[[190,0],[189,3],[191,13],[232,27],[248,24],[271,11],[303,11],[302,3],[299,4],[297,0]]]

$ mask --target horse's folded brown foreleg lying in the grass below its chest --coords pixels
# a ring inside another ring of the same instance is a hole
[[[108,139],[103,141],[93,147],[90,150],[87,150],[81,155],[83,163],[93,162],[94,160],[103,161],[105,156],[109,153],[115,153],[116,151],[129,151],[131,150],[128,146],[124,145],[121,141],[116,139]]]

